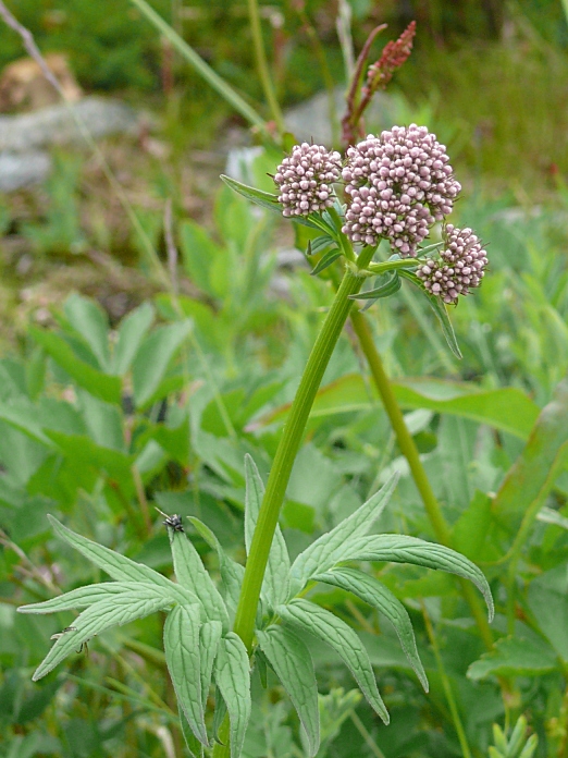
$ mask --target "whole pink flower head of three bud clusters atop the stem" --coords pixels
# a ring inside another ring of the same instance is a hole
[[[400,258],[415,258],[436,221],[452,212],[461,185],[446,148],[425,126],[393,126],[347,149],[344,164],[336,151],[296,145],[274,176],[287,217],[322,212],[334,204],[333,184],[345,184],[342,233],[358,245],[387,240]],[[470,229],[444,230],[440,258],[417,261],[424,289],[456,303],[479,286],[487,265],[485,250]]]

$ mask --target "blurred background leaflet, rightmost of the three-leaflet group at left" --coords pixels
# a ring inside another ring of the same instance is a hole
[[[143,407],[151,400],[170,362],[192,328],[192,321],[187,319],[155,329],[144,340],[132,365],[134,402],[137,407]]]

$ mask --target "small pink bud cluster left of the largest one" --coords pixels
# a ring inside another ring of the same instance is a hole
[[[309,216],[332,206],[332,185],[339,180],[341,168],[339,154],[322,145],[293,147],[274,176],[284,216]]]

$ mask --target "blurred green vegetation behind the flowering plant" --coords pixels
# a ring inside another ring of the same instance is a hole
[[[158,505],[198,516],[243,560],[244,454],[267,474],[331,288],[300,265],[283,268],[289,232],[221,188],[229,146],[258,137],[133,5],[7,4],[44,52],[67,53],[87,91],[155,114],[151,136],[109,139],[102,149],[161,268],[88,151],[61,151],[44,187],[0,198],[1,749],[10,758],[182,756],[158,616],[95,639],[88,656],[33,684],[50,635],[72,619],[22,616],[15,607],[101,578],[53,538],[47,513],[170,573]],[[269,115],[245,4],[152,5]],[[335,3],[261,8],[281,102],[324,85],[310,29],[331,77],[343,83]],[[487,651],[452,578],[373,566],[411,614],[431,683],[424,695],[385,621],[319,587],[311,599],[360,633],[392,714],[381,725],[338,661],[314,646],[329,693],[321,756],[487,756],[499,747],[493,724],[510,729],[523,713],[539,736],[535,755],[560,758],[568,755],[563,5],[354,0],[353,14],[356,49],[374,24],[388,21],[391,38],[417,19],[416,50],[390,89],[391,107],[397,120],[427,123],[446,142],[465,178],[453,221],[489,243],[483,286],[452,313],[461,362],[406,288],[370,316],[454,542],[491,580],[497,618]],[[1,27],[0,62],[22,52]],[[266,148],[251,183],[270,187],[266,173],[277,161]],[[177,267],[171,254],[168,260],[169,199]],[[346,332],[283,510],[293,557],[393,468],[403,479],[380,527],[435,539]],[[214,570],[209,546],[194,537]],[[276,686],[259,685],[246,755],[304,755]]]

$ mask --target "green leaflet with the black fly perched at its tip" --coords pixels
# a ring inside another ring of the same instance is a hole
[[[182,587],[196,595],[203,604],[209,621],[220,621],[229,628],[229,615],[223,598],[207,572],[199,553],[187,538],[185,531],[168,527],[175,577]]]

